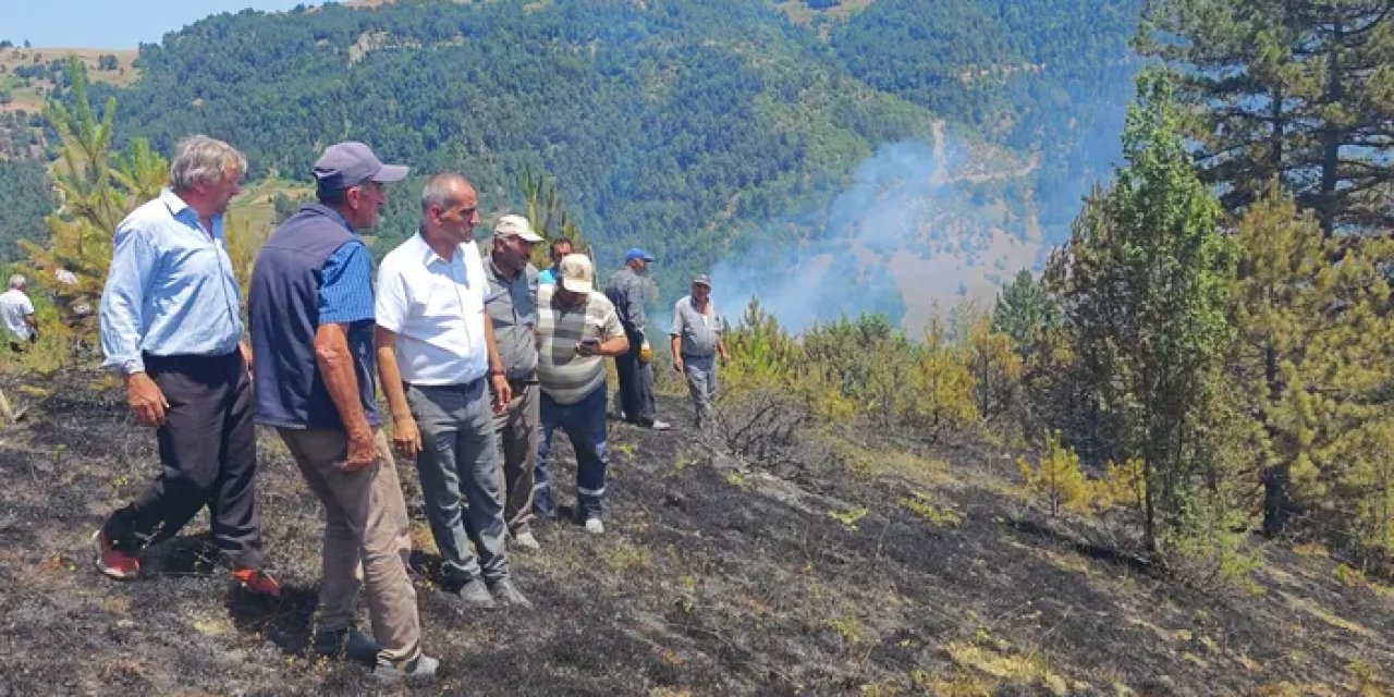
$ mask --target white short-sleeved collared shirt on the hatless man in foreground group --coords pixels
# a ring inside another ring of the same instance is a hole
[[[489,372],[484,297],[489,282],[475,243],[443,259],[413,234],[378,268],[378,325],[397,335],[401,379],[461,385]]]

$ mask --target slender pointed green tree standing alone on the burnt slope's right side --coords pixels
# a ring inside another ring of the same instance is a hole
[[[1128,167],[1086,204],[1047,282],[1073,337],[1073,378],[1117,450],[1107,459],[1143,461],[1143,538],[1156,551],[1214,454],[1209,415],[1231,335],[1234,254],[1158,71],[1139,77],[1124,155]]]

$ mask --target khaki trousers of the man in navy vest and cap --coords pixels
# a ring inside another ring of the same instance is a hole
[[[335,467],[348,456],[343,431],[276,429],[305,482],[325,506],[325,539],[316,631],[353,625],[358,588],[368,587],[368,618],[378,658],[410,661],[421,652],[417,592],[407,574],[411,538],[407,505],[388,438],[374,443],[379,463],[354,473]]]

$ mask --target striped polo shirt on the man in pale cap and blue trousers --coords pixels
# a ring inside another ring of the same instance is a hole
[[[537,379],[558,404],[576,404],[605,385],[605,358],[577,355],[583,337],[601,342],[625,336],[615,305],[604,293],[590,293],[585,304],[563,308],[556,286],[537,289]]]

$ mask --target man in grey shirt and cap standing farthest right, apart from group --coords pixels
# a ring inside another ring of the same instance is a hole
[[[701,428],[711,417],[711,403],[717,399],[717,355],[722,361],[729,358],[721,340],[721,319],[711,302],[711,279],[705,273],[693,279],[691,296],[673,305],[671,333],[673,369],[687,379],[693,418]]]

